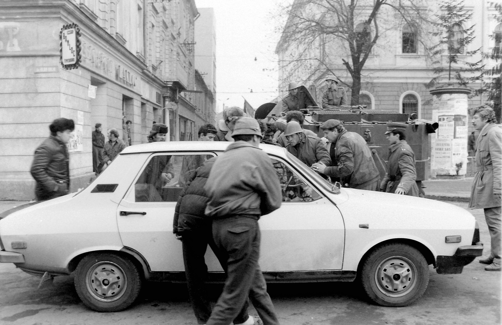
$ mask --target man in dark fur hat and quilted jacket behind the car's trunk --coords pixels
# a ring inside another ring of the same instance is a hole
[[[72,119],[56,118],[49,130],[51,136],[35,150],[31,175],[37,182],[35,195],[38,201],[57,198],[70,190],[70,155],[66,143],[75,129]]]

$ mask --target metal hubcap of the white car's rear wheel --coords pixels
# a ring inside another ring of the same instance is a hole
[[[115,301],[127,287],[127,278],[120,266],[113,262],[98,262],[89,268],[87,290],[100,301]]]

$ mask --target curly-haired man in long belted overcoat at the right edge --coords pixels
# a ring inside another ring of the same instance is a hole
[[[482,105],[469,111],[472,125],[479,131],[476,141],[476,174],[469,208],[483,209],[491,238],[490,255],[479,263],[486,271],[500,271],[500,178],[502,177],[502,129],[495,125],[495,112]]]

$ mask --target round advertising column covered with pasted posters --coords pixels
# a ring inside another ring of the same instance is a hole
[[[439,127],[431,138],[431,176],[457,178],[467,170],[466,88],[437,88],[433,95],[432,120]]]

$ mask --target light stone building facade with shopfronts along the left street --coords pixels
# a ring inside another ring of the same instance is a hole
[[[194,90],[194,0],[20,0],[0,11],[0,199],[34,198],[30,167],[55,118],[75,121],[69,143],[71,191],[92,172],[94,124],[147,142],[152,123],[179,140],[203,115],[184,91]],[[60,63],[60,30],[77,24],[81,63]],[[183,125],[183,127],[181,127]]]

